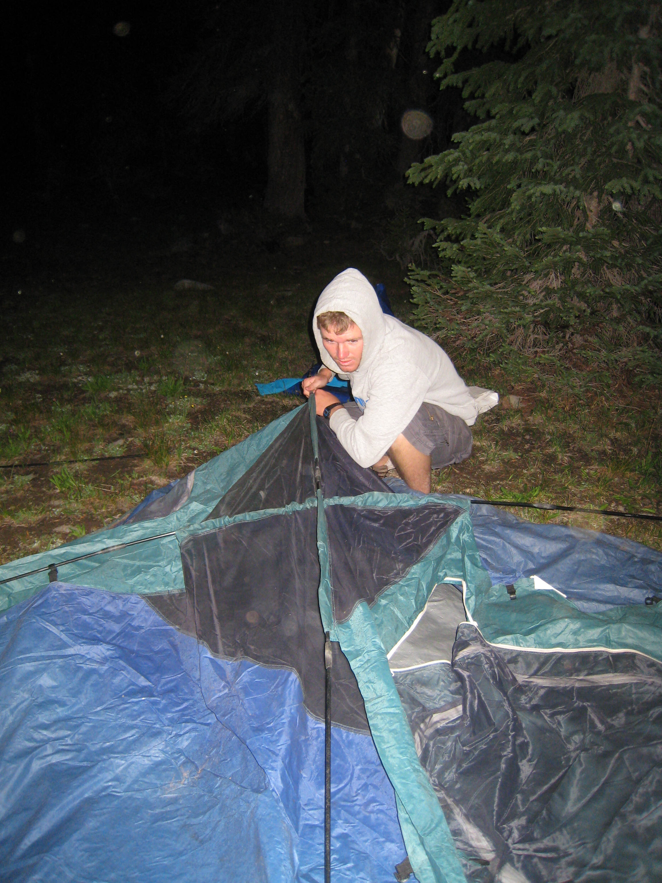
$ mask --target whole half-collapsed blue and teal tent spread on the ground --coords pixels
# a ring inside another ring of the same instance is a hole
[[[305,405],[0,568],[0,879],[323,879],[325,632],[332,879],[660,879],[662,555],[402,491]]]

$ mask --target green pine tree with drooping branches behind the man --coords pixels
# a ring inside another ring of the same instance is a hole
[[[661,26],[649,0],[455,0],[433,22],[440,87],[478,118],[409,173],[467,199],[462,220],[425,222],[439,265],[410,271],[450,351],[574,347],[659,378]]]

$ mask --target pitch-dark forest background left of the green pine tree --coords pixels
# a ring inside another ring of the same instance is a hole
[[[425,54],[448,4],[12,4],[5,23],[5,236],[34,205],[260,200],[345,210],[466,128]],[[7,39],[9,38],[9,39]],[[402,112],[432,134],[408,139]],[[383,195],[383,193],[382,193]],[[388,198],[388,194],[387,194]],[[391,208],[393,196],[391,195]]]

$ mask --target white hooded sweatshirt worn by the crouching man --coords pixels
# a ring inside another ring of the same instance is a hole
[[[329,311],[346,313],[361,329],[363,354],[352,374],[342,373],[322,343],[317,317]],[[342,447],[361,466],[372,466],[387,452],[424,402],[438,404],[472,426],[479,413],[499,401],[496,393],[467,387],[447,354],[429,337],[384,315],[372,285],[356,269],[343,270],[322,291],[312,330],[322,362],[343,380],[349,379],[363,411],[353,420],[336,408],[330,420]]]

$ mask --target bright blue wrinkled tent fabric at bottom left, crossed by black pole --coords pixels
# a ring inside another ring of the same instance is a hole
[[[0,879],[321,881],[324,725],[290,671],[214,658],[135,595],[0,615]],[[334,879],[405,855],[372,739],[333,728]]]

